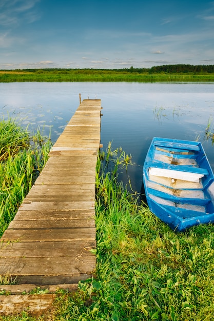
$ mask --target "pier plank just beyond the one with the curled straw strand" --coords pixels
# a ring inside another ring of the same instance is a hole
[[[50,228],[50,229],[8,229],[1,240],[4,242],[50,242],[62,240],[95,240],[96,229],[89,228]]]

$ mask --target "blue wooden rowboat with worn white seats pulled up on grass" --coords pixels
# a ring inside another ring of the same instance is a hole
[[[143,182],[150,211],[173,230],[214,222],[214,176],[200,142],[154,137]]]

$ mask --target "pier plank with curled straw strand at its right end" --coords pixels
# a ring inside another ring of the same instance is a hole
[[[53,242],[2,242],[0,257],[79,257],[91,256],[96,241],[72,240]],[[23,255],[24,254],[24,255]]]

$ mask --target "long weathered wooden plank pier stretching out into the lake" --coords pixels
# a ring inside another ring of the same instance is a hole
[[[0,275],[21,285],[77,284],[92,275],[101,101],[85,99],[1,238]],[[4,290],[4,286],[0,286]],[[1,302],[1,300],[0,300]],[[0,313],[1,313],[0,303]]]

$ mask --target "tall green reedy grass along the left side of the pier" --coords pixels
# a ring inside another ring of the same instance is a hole
[[[12,119],[0,122],[0,236],[47,161],[51,147],[40,130],[32,136]]]

